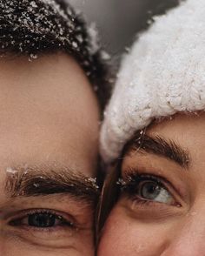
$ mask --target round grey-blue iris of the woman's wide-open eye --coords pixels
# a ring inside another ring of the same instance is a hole
[[[159,185],[154,182],[146,182],[142,185],[142,198],[145,199],[155,199],[161,191]]]

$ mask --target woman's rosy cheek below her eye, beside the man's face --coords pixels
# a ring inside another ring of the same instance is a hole
[[[140,222],[114,209],[102,232],[97,255],[161,255],[168,245],[167,238],[169,227],[165,224]]]

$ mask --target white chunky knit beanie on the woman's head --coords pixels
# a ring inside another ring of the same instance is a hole
[[[101,133],[102,158],[115,160],[136,131],[179,111],[205,110],[205,0],[155,17],[122,60]]]

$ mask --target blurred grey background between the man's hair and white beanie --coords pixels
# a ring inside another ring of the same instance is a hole
[[[179,0],[68,0],[82,10],[89,23],[95,23],[102,45],[118,57],[133,41],[151,12],[175,5]]]

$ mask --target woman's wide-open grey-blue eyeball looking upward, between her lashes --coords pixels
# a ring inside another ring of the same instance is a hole
[[[172,204],[174,201],[172,195],[166,188],[152,180],[139,182],[136,189],[136,195],[141,199],[163,204]]]

